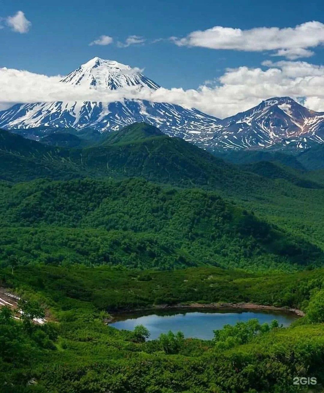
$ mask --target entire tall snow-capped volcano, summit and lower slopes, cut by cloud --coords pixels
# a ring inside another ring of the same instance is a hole
[[[117,61],[94,57],[61,79],[61,83],[82,86],[89,90],[127,89],[140,92],[157,90],[160,86],[137,69]],[[142,99],[122,99],[115,102],[69,101],[16,104],[0,112],[0,127],[19,129],[31,127],[92,127],[100,132],[119,130],[134,122],[145,121],[159,127],[170,136],[190,140],[201,131],[213,132],[218,119],[196,109],[170,103]]]

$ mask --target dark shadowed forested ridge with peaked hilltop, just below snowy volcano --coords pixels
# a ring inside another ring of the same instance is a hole
[[[0,130],[0,179],[17,182],[35,177],[144,177],[181,186],[205,186],[224,191],[250,192],[269,188],[259,176],[226,164],[179,138],[161,135],[156,128],[135,123],[112,133],[103,144],[86,149],[51,147]],[[36,171],[39,167],[39,173]]]

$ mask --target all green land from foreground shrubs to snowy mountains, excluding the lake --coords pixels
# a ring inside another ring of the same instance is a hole
[[[19,130],[39,143],[0,130],[0,298],[22,298],[20,320],[0,308],[1,392],[307,391],[294,376],[321,391],[321,146],[314,160],[237,152],[230,163],[144,123],[60,131]],[[211,341],[107,325],[109,313],[192,302],[305,316]]]

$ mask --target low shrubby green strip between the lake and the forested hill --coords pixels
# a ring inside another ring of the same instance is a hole
[[[121,266],[19,266],[0,269],[7,285],[20,285],[55,296],[59,307],[69,299],[91,302],[114,312],[181,302],[251,302],[292,307],[307,312],[309,301],[323,288],[324,269],[282,272],[245,272],[199,267],[172,271],[134,270]],[[64,309],[64,307],[63,307]],[[64,314],[64,312],[63,312]],[[322,321],[324,315],[319,319]]]

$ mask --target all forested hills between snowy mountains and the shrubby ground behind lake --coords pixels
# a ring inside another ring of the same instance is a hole
[[[83,178],[1,186],[4,264],[290,269],[322,263],[323,186],[293,169],[265,162],[242,171],[144,123],[87,149],[44,146],[6,131],[0,136],[0,151],[10,158],[0,166],[5,180]],[[261,176],[265,167],[270,178]],[[108,174],[186,188],[103,180]],[[14,240],[21,226],[24,236]],[[32,237],[38,250],[28,246]]]

